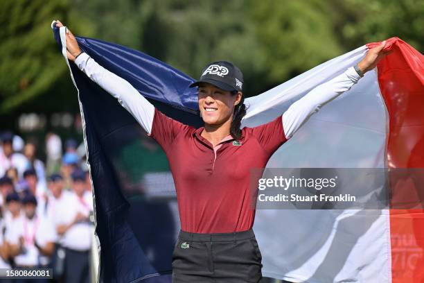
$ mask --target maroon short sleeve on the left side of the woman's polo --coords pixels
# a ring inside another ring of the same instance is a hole
[[[190,126],[172,119],[154,108],[150,137],[155,139],[158,144],[164,148],[164,151],[167,152],[171,144],[173,144],[175,137],[177,137],[180,132],[188,130],[189,127]]]

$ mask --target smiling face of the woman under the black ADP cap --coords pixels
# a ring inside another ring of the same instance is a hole
[[[234,107],[240,103],[241,93],[233,95],[210,83],[199,85],[199,109],[204,123],[220,125],[231,119]]]

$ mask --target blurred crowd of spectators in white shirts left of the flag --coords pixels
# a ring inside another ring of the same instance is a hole
[[[0,268],[53,268],[57,282],[89,282],[94,216],[83,146],[48,133],[43,162],[34,141],[0,134]]]

